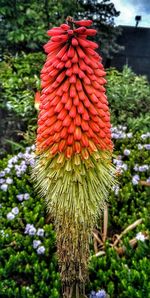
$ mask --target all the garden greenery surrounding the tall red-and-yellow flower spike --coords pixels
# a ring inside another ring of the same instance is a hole
[[[82,3],[86,1],[78,1],[80,7],[76,1],[54,2],[45,1],[39,9],[38,1],[20,1],[16,12],[13,6],[8,11],[7,1],[1,7],[6,33],[0,61],[2,298],[62,297],[54,220],[31,178],[36,163],[40,72],[45,63],[42,46],[47,41],[47,20],[51,19],[52,28],[63,23],[72,9],[82,17],[84,13],[89,17],[89,11]],[[108,5],[109,1],[102,2]],[[114,8],[111,14],[117,16]],[[99,38],[106,43],[103,34]],[[106,48],[103,55],[109,56]],[[117,183],[91,233],[89,277],[86,296],[81,297],[149,298],[150,84],[128,66],[122,72],[110,68],[106,73]]]

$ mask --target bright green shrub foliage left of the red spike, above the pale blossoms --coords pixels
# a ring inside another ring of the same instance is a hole
[[[44,59],[43,53],[22,53],[5,56],[0,62],[0,141],[4,150],[16,148],[10,141],[21,140],[29,125],[36,128],[34,94],[40,88],[39,72]]]

